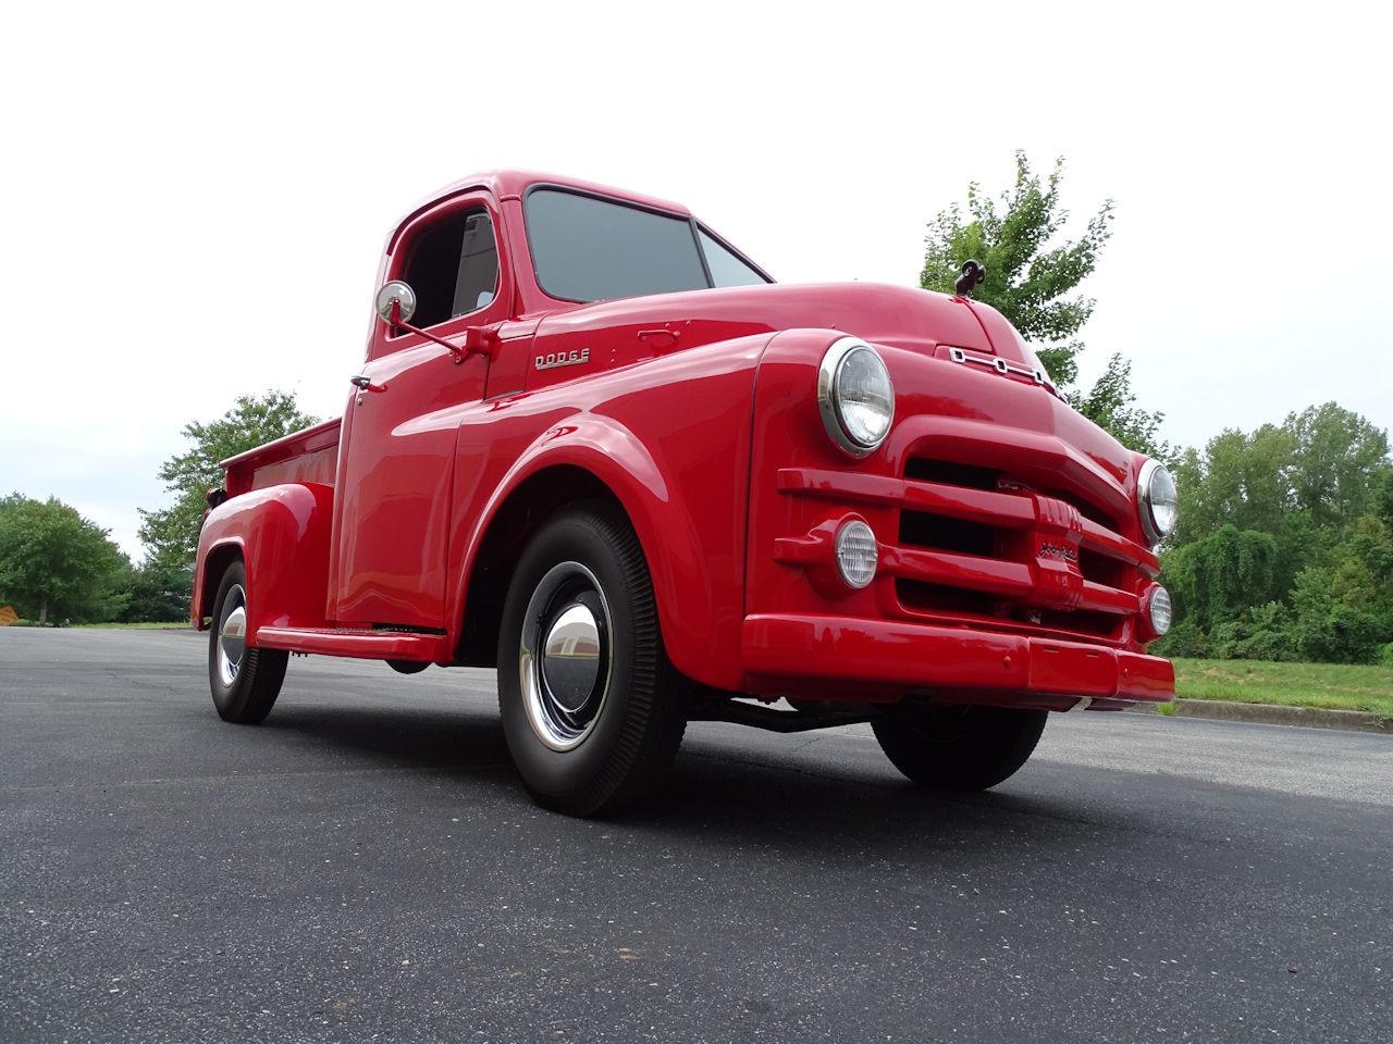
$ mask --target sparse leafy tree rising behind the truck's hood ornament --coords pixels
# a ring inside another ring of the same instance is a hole
[[[1060,206],[1063,177],[1063,157],[1042,181],[1025,153],[1017,152],[1015,184],[1000,196],[985,195],[971,182],[965,212],[954,203],[929,224],[919,285],[951,294],[963,262],[982,262],[986,277],[972,291],[974,298],[996,308],[1032,342],[1070,405],[1124,445],[1166,458],[1170,447],[1159,437],[1165,415],[1137,405],[1130,362],[1113,355],[1092,390],[1073,388],[1084,349],[1078,331],[1095,303],[1074,291],[1092,274],[1112,235],[1113,200],[1103,202],[1077,239],[1060,239],[1068,220],[1068,210]]]

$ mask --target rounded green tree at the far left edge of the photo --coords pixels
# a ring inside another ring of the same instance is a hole
[[[0,603],[20,615],[110,619],[130,562],[107,530],[75,508],[18,493],[0,500]]]

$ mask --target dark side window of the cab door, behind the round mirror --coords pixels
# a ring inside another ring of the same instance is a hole
[[[401,278],[417,291],[414,326],[432,327],[492,303],[499,288],[499,248],[489,213],[450,214],[419,232]]]

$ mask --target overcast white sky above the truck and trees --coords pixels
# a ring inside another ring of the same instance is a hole
[[[1011,152],[1117,200],[1085,379],[1199,444],[1393,425],[1390,25],[1375,4],[22,4],[0,90],[0,493],[139,554],[180,427],[343,409],[383,237],[469,171],[678,199],[780,281],[915,284]]]

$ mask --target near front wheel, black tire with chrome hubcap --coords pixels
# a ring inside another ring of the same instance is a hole
[[[522,553],[499,633],[499,711],[532,798],[573,816],[652,792],[687,728],[653,585],[628,521],[578,505]]]

